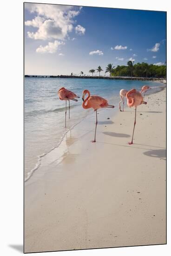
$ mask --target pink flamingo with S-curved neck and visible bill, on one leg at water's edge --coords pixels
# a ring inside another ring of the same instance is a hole
[[[88,94],[88,96],[86,97],[86,99],[84,99],[86,94]],[[102,98],[100,96],[97,96],[97,95],[90,96],[90,92],[88,90],[83,91],[82,100],[83,100],[83,104],[82,104],[83,108],[85,108],[85,109],[93,108],[94,111],[96,111],[95,135],[94,135],[94,141],[92,141],[92,142],[96,142],[96,128],[97,128],[97,124],[98,124],[97,109],[99,109],[99,108],[114,108],[114,106],[109,105],[107,100],[105,100],[104,98]],[[86,103],[86,105],[85,105],[85,103]]]

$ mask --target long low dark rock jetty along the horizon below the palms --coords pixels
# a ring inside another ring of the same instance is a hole
[[[82,79],[109,79],[109,80],[139,80],[139,81],[161,81],[164,78],[130,77],[130,76],[78,76],[78,75],[25,75],[25,77],[43,78],[82,78]]]

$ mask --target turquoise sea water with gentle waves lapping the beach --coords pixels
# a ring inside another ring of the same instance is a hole
[[[119,91],[124,88],[140,90],[143,85],[154,87],[148,91],[161,90],[161,83],[151,81],[62,79],[62,78],[25,78],[25,178],[30,177],[39,167],[40,158],[52,148],[57,147],[66,131],[79,123],[92,110],[82,108],[82,92],[88,89],[91,94],[99,95],[115,105],[118,111]],[[71,102],[70,120],[65,128],[65,101],[60,101],[58,90],[66,87],[80,99]]]

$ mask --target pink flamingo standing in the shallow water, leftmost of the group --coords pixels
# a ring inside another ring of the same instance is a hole
[[[78,101],[75,98],[79,98],[76,94],[74,94],[72,91],[67,90],[66,88],[62,87],[58,91],[59,99],[61,101],[69,101],[69,118],[70,118],[70,100],[72,101]],[[65,112],[66,115],[66,112]],[[65,128],[66,128],[66,118],[65,118]]]

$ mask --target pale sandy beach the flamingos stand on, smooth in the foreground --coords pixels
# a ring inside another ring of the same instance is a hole
[[[104,109],[96,143],[92,113],[41,159],[25,183],[25,252],[166,243],[165,89],[145,101],[133,145],[133,108]]]

